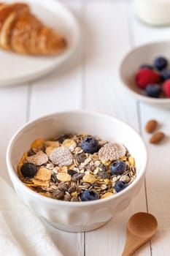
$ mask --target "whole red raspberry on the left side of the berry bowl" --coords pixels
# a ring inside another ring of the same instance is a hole
[[[141,89],[145,89],[149,83],[159,83],[161,76],[152,69],[140,69],[136,73],[136,84]]]

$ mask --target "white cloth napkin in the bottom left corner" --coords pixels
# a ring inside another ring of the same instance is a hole
[[[62,256],[45,225],[0,177],[0,255]]]

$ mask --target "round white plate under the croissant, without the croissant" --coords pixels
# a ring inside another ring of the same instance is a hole
[[[11,2],[6,0],[7,3]],[[55,56],[23,56],[0,50],[0,86],[24,83],[46,75],[74,53],[79,42],[79,27],[72,13],[56,0],[24,0],[44,23],[63,34],[67,49]]]

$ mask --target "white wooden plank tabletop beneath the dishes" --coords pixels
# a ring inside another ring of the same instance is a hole
[[[131,48],[170,39],[170,28],[156,29],[139,23],[128,0],[64,2],[80,23],[81,42],[77,53],[46,78],[0,89],[1,176],[10,184],[5,162],[7,143],[26,121],[55,110],[80,108],[116,116],[137,129],[147,144],[149,165],[139,195],[125,211],[98,230],[66,233],[47,228],[64,256],[119,256],[125,243],[128,218],[138,211],[149,211],[158,219],[158,233],[135,255],[169,256],[170,112],[136,102],[124,94],[118,68]],[[150,118],[157,119],[160,129],[167,135],[159,146],[150,145],[149,136],[144,132],[144,124]]]

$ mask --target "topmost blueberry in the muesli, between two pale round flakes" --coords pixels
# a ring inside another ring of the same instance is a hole
[[[85,153],[93,154],[99,149],[98,141],[93,137],[87,136],[82,140],[81,148]]]

